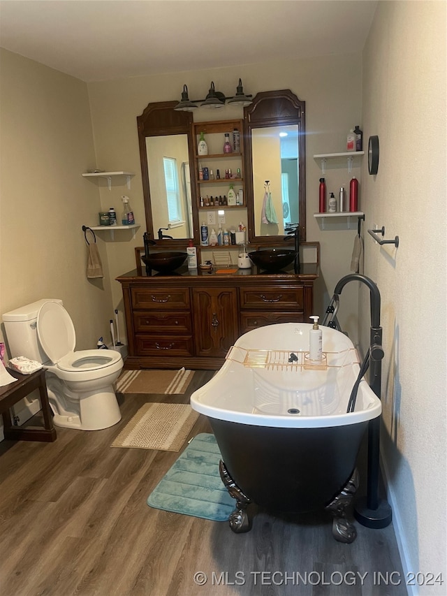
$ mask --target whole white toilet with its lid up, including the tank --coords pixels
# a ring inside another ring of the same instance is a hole
[[[113,384],[123,368],[115,350],[75,351],[75,328],[61,300],[37,300],[3,314],[11,358],[26,356],[47,370],[54,424],[100,430],[121,420]]]

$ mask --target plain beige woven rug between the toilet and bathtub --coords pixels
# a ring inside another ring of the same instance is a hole
[[[198,412],[189,404],[147,403],[111,446],[179,451],[197,419]]]

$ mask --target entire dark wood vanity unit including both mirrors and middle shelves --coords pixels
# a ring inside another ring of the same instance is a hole
[[[306,242],[305,102],[288,89],[258,93],[251,105],[243,108],[243,119],[214,122],[200,122],[200,117],[194,122],[191,112],[176,111],[175,106],[176,102],[149,103],[137,118],[145,242],[150,241],[151,252],[184,251],[192,240],[198,247],[200,263],[210,259],[210,249],[213,254],[214,249],[217,254],[220,249],[240,250],[234,245],[200,247],[200,221],[207,211],[218,207],[202,207],[200,196],[225,194],[221,183],[234,182],[235,191],[241,191],[243,196],[242,204],[226,205],[224,209],[247,221],[249,252],[275,246],[293,248],[299,239],[300,252],[312,245],[315,256],[301,259],[298,273],[293,266],[265,273],[256,267],[238,269],[235,265],[227,270],[214,266],[212,272],[191,272],[184,266],[169,275],[155,271],[154,275],[150,271],[147,275],[142,270],[139,249],[135,249],[136,269],[117,277],[122,284],[129,345],[125,366],[131,369],[218,369],[228,349],[243,333],[274,323],[309,321],[314,314],[319,245]],[[223,134],[235,129],[240,132],[240,150],[223,154]],[[207,157],[199,156],[197,151],[198,135],[202,132],[210,142]],[[172,157],[166,157],[167,154]],[[182,197],[179,194],[178,221],[170,221],[171,213],[166,207],[162,164],[167,159],[182,164],[178,177],[182,188],[187,189]],[[233,180],[201,180],[198,170],[202,164],[233,168],[237,175]],[[189,186],[185,167],[189,168]],[[269,221],[263,221],[268,186],[265,178],[270,180],[277,201],[277,217]],[[168,227],[167,235],[163,235]],[[309,260],[312,263],[306,262]]]

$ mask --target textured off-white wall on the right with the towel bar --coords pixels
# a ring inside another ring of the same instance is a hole
[[[379,2],[363,59],[363,126],[379,173],[363,171],[365,242],[382,297],[382,455],[409,572],[446,580],[446,3]],[[368,337],[363,303],[363,344]],[[440,596],[444,586],[423,586]]]

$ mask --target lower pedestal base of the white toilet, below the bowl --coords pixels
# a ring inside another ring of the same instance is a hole
[[[63,390],[63,391],[62,391]],[[102,430],[121,420],[117,396],[112,385],[102,391],[69,391],[61,381],[47,373],[47,391],[54,413],[54,426],[78,430]]]

